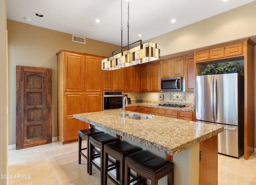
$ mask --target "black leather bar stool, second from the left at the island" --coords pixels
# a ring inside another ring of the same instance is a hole
[[[94,165],[98,170],[100,170],[100,184],[103,184],[103,163],[104,163],[104,145],[107,143],[112,143],[115,141],[120,141],[116,137],[112,137],[107,133],[100,133],[92,135],[89,137],[89,175],[92,175],[92,165]],[[93,150],[99,148],[100,151],[96,154],[93,154]],[[93,160],[100,157],[100,166],[98,166]]]

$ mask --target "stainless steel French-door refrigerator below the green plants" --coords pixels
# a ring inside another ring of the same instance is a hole
[[[224,127],[218,152],[244,153],[244,77],[237,73],[196,76],[196,120]]]

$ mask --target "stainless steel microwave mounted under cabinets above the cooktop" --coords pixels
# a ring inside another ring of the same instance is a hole
[[[182,77],[162,78],[161,91],[182,91]]]

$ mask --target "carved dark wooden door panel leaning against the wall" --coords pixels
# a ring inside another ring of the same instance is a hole
[[[16,149],[52,143],[52,70],[16,66]]]

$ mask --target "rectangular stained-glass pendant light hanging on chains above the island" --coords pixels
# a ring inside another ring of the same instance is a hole
[[[142,40],[129,44],[129,8],[130,0],[128,0],[128,45],[122,46],[122,0],[121,0],[121,48],[112,52],[112,56],[102,60],[102,70],[116,70],[143,64],[160,59],[160,45],[152,42],[142,44]],[[139,42],[139,44],[138,44]],[[137,43],[137,46],[134,46]],[[132,48],[130,48],[133,46]],[[121,50],[121,52],[120,52]],[[114,54],[118,52],[118,54]]]

